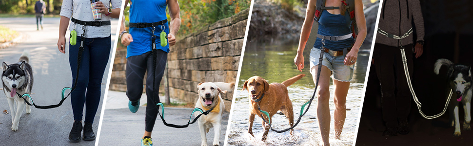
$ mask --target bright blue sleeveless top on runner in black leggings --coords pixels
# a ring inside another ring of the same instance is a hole
[[[166,17],[166,0],[131,0],[130,5],[130,23],[153,23],[167,19]],[[169,53],[169,43],[161,46],[160,34],[163,25],[156,26],[154,34],[156,35],[156,49]],[[152,50],[151,48],[151,31],[153,27],[146,28],[130,28],[130,35],[133,42],[128,45],[126,57],[142,55]],[[169,24],[164,24],[164,31],[169,34]]]

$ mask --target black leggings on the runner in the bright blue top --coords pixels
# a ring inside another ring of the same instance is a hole
[[[166,66],[167,53],[158,50],[156,57],[156,75],[155,75],[155,86],[156,97],[153,98],[153,55],[150,52],[142,55],[130,56],[126,58],[126,95],[132,102],[136,102],[140,99],[143,91],[143,78],[148,69],[148,76],[146,77],[146,96],[148,97],[148,104],[146,105],[146,128],[148,132],[153,131],[155,126],[156,117],[158,117],[158,109],[153,104],[154,99],[159,102],[159,83],[164,74],[164,68]]]

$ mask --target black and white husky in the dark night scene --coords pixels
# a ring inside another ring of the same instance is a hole
[[[458,120],[458,104],[463,103],[463,110],[465,110],[465,121],[463,121],[463,129],[471,130],[470,121],[470,103],[472,101],[472,72],[470,66],[455,65],[448,59],[438,59],[434,65],[434,73],[438,74],[440,67],[448,67],[448,88],[453,90],[452,99],[448,105],[450,113],[450,121],[455,127],[454,136],[460,136],[460,121]]]

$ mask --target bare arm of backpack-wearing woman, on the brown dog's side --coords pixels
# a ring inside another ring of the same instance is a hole
[[[312,24],[314,23],[315,3],[317,3],[317,0],[309,0],[307,4],[305,19],[300,33],[299,47],[297,48],[296,58],[294,58],[297,70],[301,72],[302,69],[304,69],[304,56],[302,56],[302,53],[304,52],[305,44],[311,34]]]

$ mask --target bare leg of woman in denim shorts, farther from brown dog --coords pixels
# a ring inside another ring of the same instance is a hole
[[[345,124],[345,118],[347,117],[347,102],[348,89],[350,88],[350,82],[340,82],[334,79],[335,94],[335,139],[340,139],[343,125]]]

